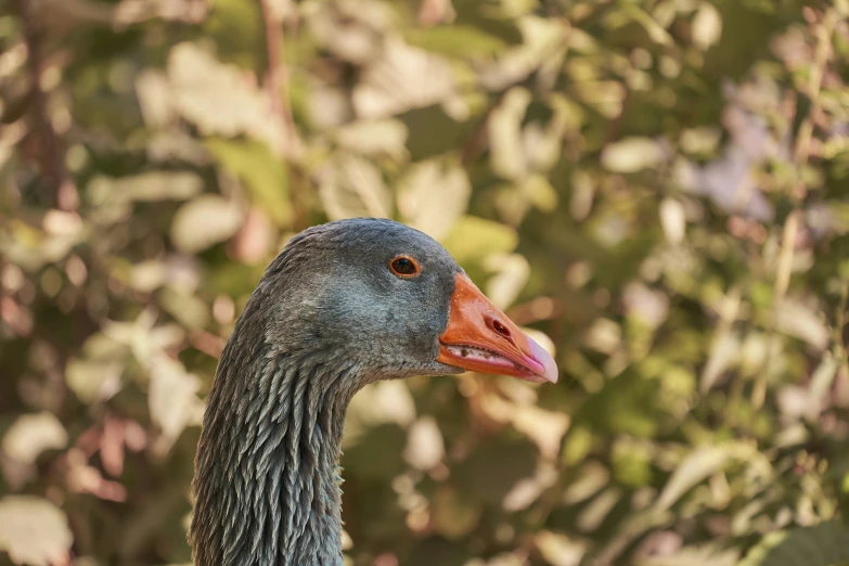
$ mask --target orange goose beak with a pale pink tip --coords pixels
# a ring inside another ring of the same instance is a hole
[[[465,274],[458,273],[454,282],[437,361],[533,383],[557,383],[557,364],[549,352],[518,330]]]

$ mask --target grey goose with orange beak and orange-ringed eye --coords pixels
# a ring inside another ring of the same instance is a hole
[[[472,370],[557,381],[552,357],[429,236],[310,228],[268,267],[216,372],[195,460],[195,566],[342,566],[339,446],[353,394]]]

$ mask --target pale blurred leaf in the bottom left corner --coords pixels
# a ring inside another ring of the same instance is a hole
[[[0,551],[15,564],[67,564],[73,540],[67,517],[53,503],[30,496],[0,500]]]

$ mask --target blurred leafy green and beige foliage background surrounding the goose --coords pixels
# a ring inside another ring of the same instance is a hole
[[[350,564],[847,564],[848,16],[4,0],[0,564],[189,564],[223,343],[353,216],[442,242],[562,375],[359,394]]]

